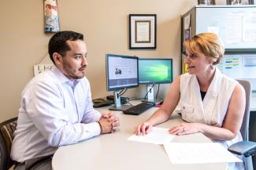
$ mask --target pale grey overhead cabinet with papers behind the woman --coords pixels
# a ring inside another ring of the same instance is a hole
[[[181,20],[182,73],[187,72],[184,41],[195,34],[213,32],[225,48],[217,67],[228,77],[249,80],[256,91],[256,5],[197,5]]]

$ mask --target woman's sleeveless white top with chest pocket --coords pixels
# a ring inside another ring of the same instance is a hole
[[[238,84],[232,78],[221,74],[216,68],[213,81],[202,100],[200,87],[196,75],[182,74],[180,76],[180,107],[184,121],[198,122],[206,125],[221,127],[228,110],[228,103]],[[239,133],[229,141],[216,141],[228,147],[232,143],[241,141]]]

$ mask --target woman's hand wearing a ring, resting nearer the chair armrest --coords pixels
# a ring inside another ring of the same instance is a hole
[[[182,123],[169,128],[169,133],[177,136],[188,135],[196,132],[202,132],[201,124],[199,123]]]

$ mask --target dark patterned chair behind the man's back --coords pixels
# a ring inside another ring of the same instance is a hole
[[[0,123],[0,170],[6,170],[13,166],[10,158],[10,150],[13,142],[13,132],[17,128],[17,118]]]

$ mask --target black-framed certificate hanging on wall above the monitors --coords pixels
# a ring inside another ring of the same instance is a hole
[[[129,48],[156,49],[157,48],[157,15],[130,14],[129,15]]]

